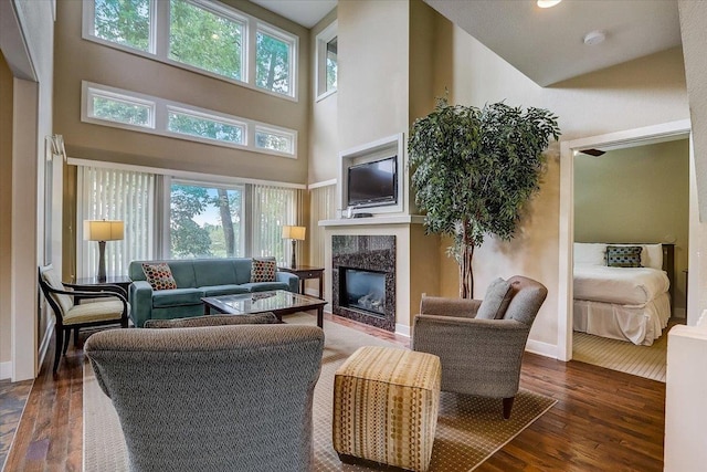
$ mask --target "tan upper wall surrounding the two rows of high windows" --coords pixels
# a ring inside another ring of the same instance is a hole
[[[299,36],[293,102],[83,40],[82,2],[57,2],[55,123],[68,156],[204,174],[304,183],[307,179],[309,32],[247,1],[225,0]],[[255,119],[298,132],[297,159],[81,122],[81,82],[89,81]]]

